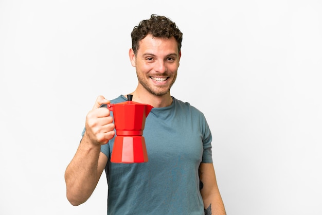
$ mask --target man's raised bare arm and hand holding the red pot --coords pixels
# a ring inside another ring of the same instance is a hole
[[[84,203],[93,193],[108,162],[101,145],[107,144],[115,135],[113,118],[107,108],[109,100],[99,96],[93,109],[87,114],[85,133],[76,154],[65,171],[66,196],[70,204]]]

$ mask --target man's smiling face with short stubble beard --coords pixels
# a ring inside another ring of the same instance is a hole
[[[139,42],[136,57],[134,53],[132,56],[139,84],[155,96],[167,94],[175,82],[181,57],[176,40],[153,38],[149,34]]]

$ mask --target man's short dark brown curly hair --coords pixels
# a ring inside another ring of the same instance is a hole
[[[174,37],[178,43],[178,51],[180,52],[183,33],[169,18],[152,14],[149,20],[142,20],[131,32],[132,49],[135,55],[139,48],[139,41],[144,39],[148,34],[152,34],[155,38],[169,39]]]

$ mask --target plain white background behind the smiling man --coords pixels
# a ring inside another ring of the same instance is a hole
[[[0,214],[78,207],[64,171],[98,95],[134,90],[130,33],[152,13],[183,31],[172,95],[204,112],[228,214],[322,214],[322,2],[0,0]]]

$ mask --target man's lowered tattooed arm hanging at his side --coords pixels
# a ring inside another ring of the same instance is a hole
[[[206,215],[226,215],[223,200],[217,185],[216,174],[211,163],[201,163],[199,167],[201,196],[204,201]]]

